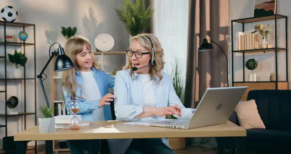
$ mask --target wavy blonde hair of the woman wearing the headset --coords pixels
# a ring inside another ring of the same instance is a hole
[[[150,79],[153,78],[153,76],[158,76],[159,77],[159,82],[163,79],[163,76],[161,74],[162,70],[164,69],[164,49],[161,47],[161,43],[159,40],[152,34],[140,34],[137,36],[134,36],[131,38],[132,40],[137,40],[142,46],[144,46],[149,52],[150,55],[152,55],[152,46],[150,43],[150,38],[152,43],[153,43],[153,48],[154,48],[154,60],[155,63],[154,65],[151,65],[149,68],[149,75]],[[149,60],[149,63],[151,62],[151,59]],[[132,64],[130,62],[130,59],[128,58],[128,64],[123,67],[123,69],[132,69]],[[131,70],[131,75],[133,76],[134,71]]]

